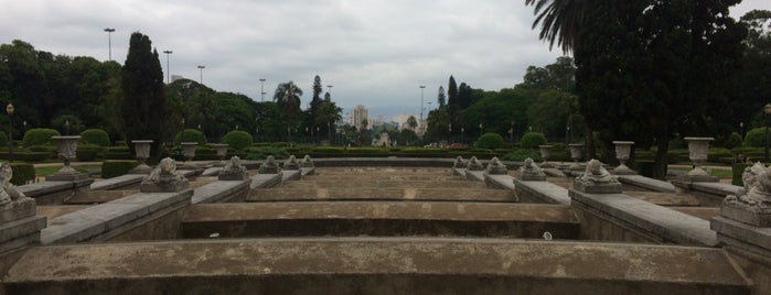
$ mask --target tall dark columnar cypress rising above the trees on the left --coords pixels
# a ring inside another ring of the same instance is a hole
[[[126,140],[153,140],[150,154],[157,157],[169,116],[163,91],[163,70],[150,37],[135,32],[121,69],[122,119]]]

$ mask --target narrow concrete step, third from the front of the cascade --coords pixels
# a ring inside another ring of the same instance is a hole
[[[511,190],[472,188],[267,188],[253,189],[245,201],[288,200],[465,200],[517,201]]]

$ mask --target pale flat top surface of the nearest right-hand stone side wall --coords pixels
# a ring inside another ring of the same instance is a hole
[[[709,221],[657,206],[624,194],[585,194],[569,190],[572,204],[579,203],[623,220],[638,230],[682,244],[717,245]]]

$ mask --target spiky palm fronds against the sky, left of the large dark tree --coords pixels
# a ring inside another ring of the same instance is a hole
[[[549,41],[549,50],[557,42],[563,52],[572,52],[578,30],[583,22],[585,1],[590,0],[525,0],[525,6],[534,6],[533,29],[540,24],[538,37]]]

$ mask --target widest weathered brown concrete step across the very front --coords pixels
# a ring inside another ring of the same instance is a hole
[[[750,294],[716,249],[500,239],[39,247],[7,294]]]

